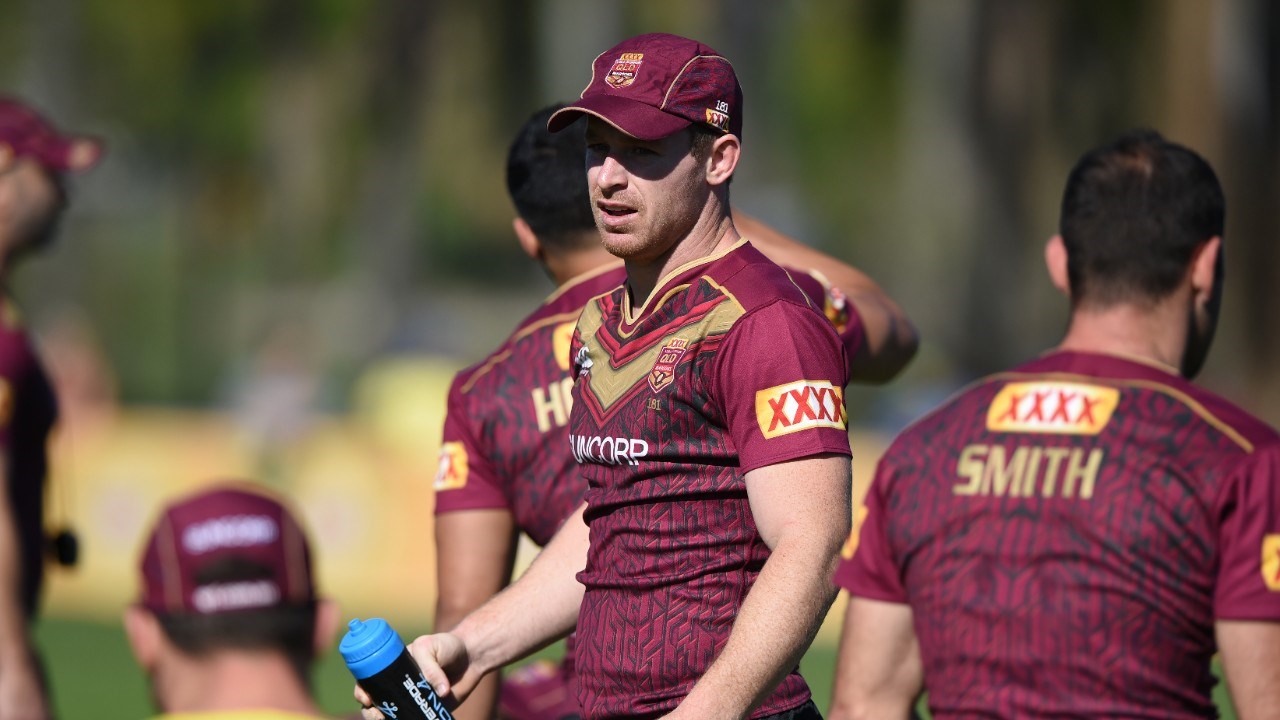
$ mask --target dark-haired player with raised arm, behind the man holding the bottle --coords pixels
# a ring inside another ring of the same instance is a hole
[[[458,373],[449,389],[435,479],[436,630],[452,629],[507,585],[518,533],[545,544],[586,491],[568,442],[570,340],[588,301],[621,286],[626,272],[595,227],[584,172],[585,122],[558,133],[547,129],[562,106],[534,113],[507,156],[515,234],[557,290],[494,352]],[[911,323],[867,275],[754,218],[735,215],[735,223],[765,255],[790,265],[792,279],[823,307],[854,382],[886,380],[911,359]],[[500,691],[492,674],[456,715],[488,719],[498,708],[516,720],[575,716],[572,657],[570,650],[554,671],[544,664],[521,669]]]

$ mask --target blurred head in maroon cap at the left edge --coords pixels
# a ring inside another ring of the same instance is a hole
[[[93,167],[101,152],[97,141],[63,135],[19,100],[0,97],[0,258],[52,240],[65,176]]]

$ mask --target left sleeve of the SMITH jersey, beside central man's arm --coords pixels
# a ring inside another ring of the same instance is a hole
[[[888,468],[887,459],[876,468],[865,505],[855,515],[860,521],[854,524],[854,534],[836,568],[836,584],[858,597],[906,602],[906,588],[902,587],[902,575],[888,541],[890,519],[884,498],[891,475]]]

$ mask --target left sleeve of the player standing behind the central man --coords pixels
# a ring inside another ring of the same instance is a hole
[[[435,473],[435,514],[458,510],[509,509],[490,452],[477,441],[472,423],[477,414],[468,407],[462,392],[466,375],[458,374],[449,386],[444,415],[444,437]]]

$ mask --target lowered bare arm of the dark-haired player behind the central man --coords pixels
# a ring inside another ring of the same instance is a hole
[[[435,518],[435,632],[452,630],[511,582],[516,523],[507,510],[461,510]],[[488,720],[498,706],[497,673],[485,675],[458,720]]]

